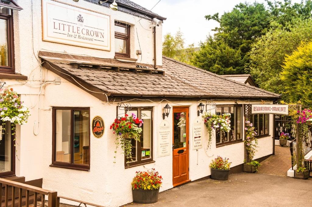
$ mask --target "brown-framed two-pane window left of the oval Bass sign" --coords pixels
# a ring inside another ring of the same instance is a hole
[[[90,169],[90,108],[53,107],[52,165]]]

